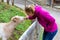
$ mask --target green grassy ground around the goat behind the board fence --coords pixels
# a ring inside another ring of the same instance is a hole
[[[25,16],[21,9],[5,3],[0,3],[0,22],[9,22],[10,19],[15,15]],[[18,40],[18,38],[29,27],[30,24],[30,20],[25,20],[23,23],[19,24],[9,40]]]

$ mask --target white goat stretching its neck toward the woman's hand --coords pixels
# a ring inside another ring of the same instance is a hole
[[[0,23],[0,37],[2,40],[8,40],[8,38],[12,35],[15,27],[22,21],[24,21],[24,17],[14,16],[10,22]]]

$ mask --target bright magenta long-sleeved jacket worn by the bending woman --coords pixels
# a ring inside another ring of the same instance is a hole
[[[29,16],[29,19],[35,19],[36,17],[38,22],[44,27],[45,31],[54,32],[58,29],[55,19],[47,10],[43,9],[39,5],[35,6],[35,13],[33,16]]]

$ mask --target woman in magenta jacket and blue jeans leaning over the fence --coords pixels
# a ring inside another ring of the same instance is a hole
[[[53,40],[58,28],[50,13],[39,5],[27,6],[25,12],[28,15],[27,19],[37,18],[38,22],[44,27],[43,40]]]

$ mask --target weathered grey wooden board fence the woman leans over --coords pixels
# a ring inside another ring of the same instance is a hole
[[[19,40],[40,40],[42,37],[41,33],[43,32],[40,24],[35,21],[19,38]]]

